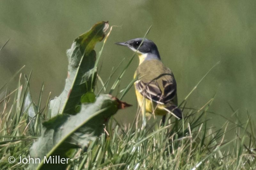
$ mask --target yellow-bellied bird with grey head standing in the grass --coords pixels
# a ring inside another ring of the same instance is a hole
[[[174,75],[161,61],[156,44],[146,38],[116,44],[130,48],[139,56],[139,66],[134,73],[134,79],[137,79],[134,87],[142,112],[143,125],[146,125],[146,117],[153,113],[163,116],[162,124],[167,113],[182,119]]]

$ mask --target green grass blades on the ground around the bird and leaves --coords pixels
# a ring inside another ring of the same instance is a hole
[[[117,91],[116,87],[120,85],[133,57],[134,55],[123,67],[121,74],[115,78],[116,81],[109,92]],[[109,80],[115,72],[114,69],[106,82],[98,78],[98,92],[108,92]],[[13,91],[3,91],[7,83],[1,87],[0,93],[5,92],[5,96],[0,99],[1,169],[28,167],[29,164],[18,164],[18,161],[11,164],[8,158],[28,158],[31,145],[40,136],[41,122],[49,118],[45,109],[48,107],[41,105],[44,89],[42,86],[36,103],[38,107],[34,108],[36,123],[34,129],[30,129],[32,120],[29,121],[28,109],[24,109],[24,104],[31,74],[24,79],[25,83],[22,83],[23,75],[20,74],[17,88]],[[132,82],[133,80],[122,92],[116,92],[118,97],[122,98],[128,92]],[[198,84],[181,102],[184,119],[178,121],[168,115],[168,121],[162,126],[161,122],[157,121],[160,117],[152,115],[146,128],[141,128],[140,109],[131,124],[121,125],[112,117],[106,124],[104,133],[95,141],[91,141],[88,148],[76,149],[70,158],[68,169],[256,169],[255,125],[250,120],[250,114],[244,114],[248,119],[243,123],[226,119],[222,128],[210,127],[207,117],[212,114],[209,109],[214,102],[214,96],[200,109],[186,107],[189,95],[196,90]],[[232,116],[236,117],[236,114],[234,111]]]

